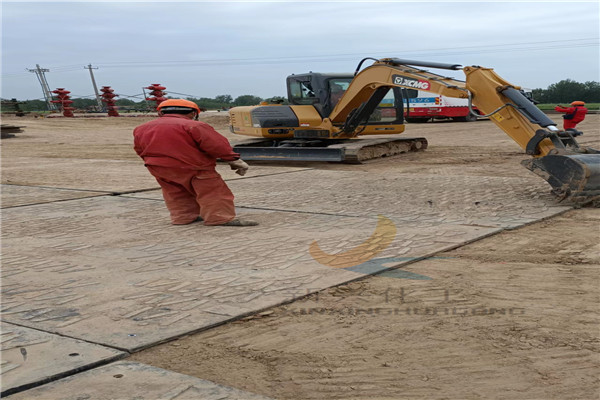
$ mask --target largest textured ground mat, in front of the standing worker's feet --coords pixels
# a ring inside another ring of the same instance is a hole
[[[172,226],[162,202],[122,196],[6,209],[2,319],[136,351],[499,231],[242,214],[261,225]]]

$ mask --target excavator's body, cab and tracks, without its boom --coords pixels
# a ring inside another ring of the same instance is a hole
[[[361,163],[427,148],[425,138],[393,137],[404,132],[406,91],[394,85],[367,95],[348,118],[333,121],[336,107],[345,104],[353,82],[354,75],[348,73],[288,76],[289,105],[230,110],[233,133],[261,138],[237,144],[234,150],[246,160]],[[359,139],[359,134],[386,137]]]

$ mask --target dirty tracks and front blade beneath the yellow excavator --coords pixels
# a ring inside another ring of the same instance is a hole
[[[331,144],[330,144],[331,143]],[[427,148],[425,138],[383,138],[347,140],[254,140],[233,147],[244,160],[327,161],[361,164]]]

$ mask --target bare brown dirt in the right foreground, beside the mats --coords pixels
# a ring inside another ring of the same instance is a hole
[[[404,268],[431,281],[366,278],[132,358],[276,399],[594,399],[599,222],[569,212]]]

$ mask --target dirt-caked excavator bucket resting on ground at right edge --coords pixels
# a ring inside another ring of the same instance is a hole
[[[600,154],[552,154],[521,164],[544,178],[561,200],[600,201]]]

